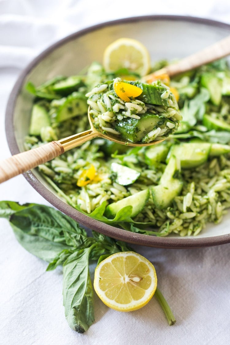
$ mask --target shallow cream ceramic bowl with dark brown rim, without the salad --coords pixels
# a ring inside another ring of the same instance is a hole
[[[152,61],[188,56],[230,34],[230,25],[192,17],[144,16],[102,23],[58,41],[35,58],[18,78],[6,110],[6,134],[12,154],[24,151],[33,97],[25,91],[28,81],[39,85],[57,75],[74,75],[92,61],[102,60],[104,49],[121,37],[140,40]],[[189,248],[230,242],[229,215],[218,225],[207,225],[196,237],[156,237],[134,234],[80,213],[66,204],[42,178],[37,169],[24,174],[28,182],[54,207],[80,224],[110,237],[149,247]]]

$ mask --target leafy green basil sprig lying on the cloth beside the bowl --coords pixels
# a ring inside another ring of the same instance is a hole
[[[0,201],[0,217],[8,219],[28,252],[49,262],[47,270],[63,266],[66,319],[74,331],[84,333],[94,321],[90,260],[132,249],[95,231],[87,236],[75,220],[45,205]]]

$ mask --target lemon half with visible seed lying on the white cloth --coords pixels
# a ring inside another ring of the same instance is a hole
[[[120,252],[98,264],[93,286],[108,307],[130,312],[150,301],[157,288],[157,275],[154,266],[142,255]]]

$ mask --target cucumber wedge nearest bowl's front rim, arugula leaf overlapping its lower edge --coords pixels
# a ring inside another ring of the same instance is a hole
[[[149,189],[141,190],[140,192],[130,195],[127,198],[121,199],[116,203],[112,203],[106,208],[106,217],[113,218],[125,206],[132,206],[131,217],[137,216],[149,200]]]

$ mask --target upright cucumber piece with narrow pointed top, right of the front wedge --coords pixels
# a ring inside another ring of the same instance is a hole
[[[171,156],[161,176],[159,185],[151,188],[154,204],[159,209],[165,209],[171,205],[173,199],[180,194],[183,181],[179,177],[177,159]]]

